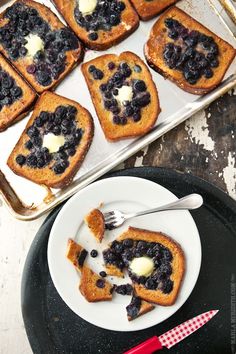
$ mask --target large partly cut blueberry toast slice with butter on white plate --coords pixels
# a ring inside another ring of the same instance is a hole
[[[129,227],[104,251],[103,258],[106,268],[112,266],[114,272],[128,270],[135,294],[141,299],[162,306],[175,303],[185,273],[185,257],[181,246],[169,236]],[[133,260],[136,264],[141,261],[138,270],[144,273],[135,273]],[[147,262],[145,273],[142,264]]]

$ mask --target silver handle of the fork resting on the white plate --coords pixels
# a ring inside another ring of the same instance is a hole
[[[199,208],[203,203],[202,196],[200,194],[189,194],[186,197],[176,200],[175,202],[165,204],[158,208],[138,211],[137,213],[125,214],[125,219],[130,219],[136,216],[142,216],[146,214],[156,213],[157,211],[165,211],[165,210],[192,210]]]

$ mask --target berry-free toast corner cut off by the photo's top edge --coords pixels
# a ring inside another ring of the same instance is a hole
[[[143,21],[150,20],[178,0],[130,0]]]

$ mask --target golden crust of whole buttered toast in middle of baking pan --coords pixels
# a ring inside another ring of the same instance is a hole
[[[112,122],[112,113],[104,111],[103,100],[102,95],[100,94],[99,86],[102,83],[107,82],[109,77],[111,77],[111,72],[107,68],[107,64],[110,61],[113,61],[115,64],[126,61],[131,68],[134,65],[139,65],[142,68],[141,73],[132,71],[132,78],[145,80],[148,90],[151,94],[151,103],[148,106],[142,108],[142,119],[139,122],[133,122],[132,119],[129,119],[125,126],[115,125]],[[104,77],[102,80],[93,79],[88,71],[90,65],[95,65],[98,69],[103,71]],[[86,79],[94,107],[96,109],[101,127],[107,140],[118,141],[124,138],[133,138],[136,136],[144,135],[153,127],[161,111],[158,93],[152,80],[150,71],[148,70],[145,63],[136,54],[131,52],[123,52],[119,56],[115,54],[105,54],[82,64],[82,72]]]

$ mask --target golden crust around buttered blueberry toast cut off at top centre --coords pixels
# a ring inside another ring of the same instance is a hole
[[[122,0],[126,8],[121,15],[121,23],[112,27],[110,31],[98,31],[98,39],[91,41],[88,39],[88,33],[83,27],[79,26],[74,18],[74,8],[76,0],[52,0],[58,11],[64,17],[68,25],[76,35],[85,43],[88,48],[95,50],[105,50],[118,44],[139,26],[139,18],[128,0]]]

